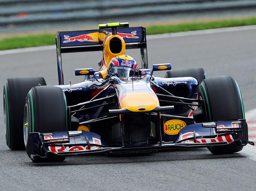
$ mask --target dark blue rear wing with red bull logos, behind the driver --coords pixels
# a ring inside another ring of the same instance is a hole
[[[111,32],[111,29],[106,29]],[[117,28],[116,32],[123,37],[126,49],[140,49],[142,68],[147,68],[146,29],[144,27]],[[57,67],[59,85],[64,84],[61,54],[71,52],[103,51],[102,41],[98,39],[99,30],[61,31],[57,32]]]

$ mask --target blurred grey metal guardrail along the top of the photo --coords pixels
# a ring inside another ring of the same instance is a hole
[[[255,0],[0,0],[0,26],[256,7]]]

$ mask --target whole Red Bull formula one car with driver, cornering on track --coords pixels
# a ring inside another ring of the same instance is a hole
[[[229,154],[254,144],[233,77],[207,79],[202,68],[171,71],[170,63],[148,68],[144,27],[107,23],[57,32],[56,45],[59,85],[46,86],[43,77],[4,84],[6,143],[26,147],[32,161],[179,147]],[[126,49],[140,49],[140,68]],[[61,53],[84,51],[103,51],[100,70],[75,69],[84,81],[64,85]],[[162,70],[164,78],[153,75]]]

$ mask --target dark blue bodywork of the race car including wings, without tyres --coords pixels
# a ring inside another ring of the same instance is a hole
[[[146,33],[143,27],[118,28],[116,31],[127,34],[124,39],[126,49],[140,49],[140,76],[121,79],[110,73],[103,77],[93,68],[77,69],[76,75],[85,74],[84,81],[64,85],[61,53],[103,50],[100,40],[85,40],[94,38],[93,33],[98,31],[57,32],[57,87],[63,90],[67,100],[69,129],[63,132],[29,133],[26,150],[31,159],[50,155],[145,152],[177,147],[244,146],[249,142],[245,119],[195,122],[193,111],[202,106],[202,100],[198,98],[197,80],[193,77],[153,76],[152,71],[170,70],[171,64],[155,64],[153,69],[147,68]],[[140,83],[142,81],[146,81],[146,87],[150,89],[148,93],[158,99],[159,105],[147,112],[119,108],[119,100],[124,98],[125,93],[120,96],[118,85],[126,83],[123,87],[134,91],[136,84],[143,84]],[[170,100],[168,96],[180,102]],[[182,102],[182,99],[189,104]]]

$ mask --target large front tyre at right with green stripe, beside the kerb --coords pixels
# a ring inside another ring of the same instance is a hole
[[[231,76],[216,76],[205,79],[200,85],[199,96],[204,100],[202,111],[205,121],[228,121],[245,119],[243,101],[237,82]],[[248,138],[247,129],[244,132]],[[212,154],[239,152],[243,146],[210,146]]]

